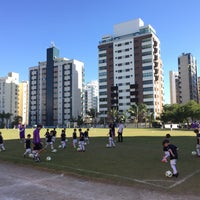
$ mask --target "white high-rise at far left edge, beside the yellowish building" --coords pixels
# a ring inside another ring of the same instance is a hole
[[[0,113],[10,113],[10,122],[18,115],[18,84],[19,74],[9,72],[8,76],[0,77]]]

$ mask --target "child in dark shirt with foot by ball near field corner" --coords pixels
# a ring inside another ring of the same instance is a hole
[[[178,148],[175,145],[170,144],[168,139],[165,139],[163,141],[163,146],[166,147],[168,152],[169,152],[170,166],[173,170],[173,176],[178,177],[179,173],[176,169],[176,162],[177,162],[177,159],[178,159],[178,153],[177,153]]]

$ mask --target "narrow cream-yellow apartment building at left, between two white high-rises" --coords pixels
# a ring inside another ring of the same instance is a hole
[[[22,117],[22,124],[28,124],[29,83],[22,81],[18,89],[18,116]]]

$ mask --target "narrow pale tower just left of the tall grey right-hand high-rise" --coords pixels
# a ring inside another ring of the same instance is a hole
[[[170,81],[170,103],[179,103],[179,77],[178,72],[169,72]]]

